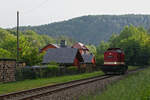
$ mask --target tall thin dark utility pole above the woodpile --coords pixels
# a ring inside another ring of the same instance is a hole
[[[19,11],[17,11],[17,62],[19,61]]]

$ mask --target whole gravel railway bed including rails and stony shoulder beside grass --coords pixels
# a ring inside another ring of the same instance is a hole
[[[0,100],[77,100],[82,95],[103,91],[108,84],[142,69],[128,71],[125,75],[102,75],[20,92],[0,95]]]

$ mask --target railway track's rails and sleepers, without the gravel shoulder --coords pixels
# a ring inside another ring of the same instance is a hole
[[[141,69],[138,69],[138,70],[141,70]],[[127,74],[134,73],[136,71],[137,70],[132,70],[132,71],[129,71]],[[20,91],[20,92],[9,93],[5,95],[0,95],[0,100],[43,100],[39,98],[48,96],[51,94],[55,94],[59,91],[63,91],[69,88],[74,88],[80,85],[89,84],[95,81],[104,81],[105,79],[109,79],[112,77],[118,77],[118,76],[102,75],[102,76],[96,76],[96,77],[87,78],[87,79],[80,79],[80,80],[70,81],[66,83],[60,83],[56,85],[34,88],[34,89]],[[45,99],[45,100],[49,100],[49,99]]]

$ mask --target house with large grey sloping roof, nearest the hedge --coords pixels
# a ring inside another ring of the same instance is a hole
[[[56,48],[47,50],[42,64],[49,64],[51,62],[65,66],[80,67],[80,63],[84,62],[84,60],[76,48]]]

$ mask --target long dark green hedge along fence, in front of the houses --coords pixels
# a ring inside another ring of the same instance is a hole
[[[16,69],[16,80],[48,78],[62,75],[73,75],[84,72],[91,72],[86,68],[78,69],[77,66],[60,67],[57,64],[49,64],[46,67],[24,67]]]

